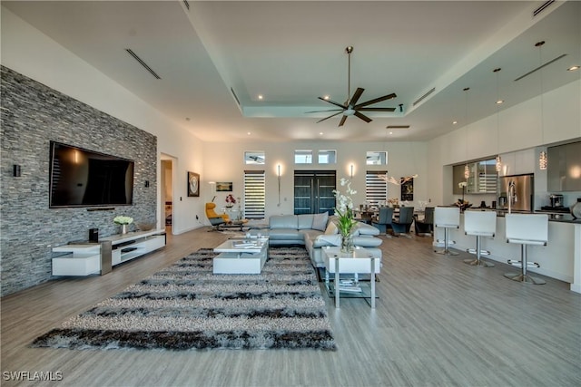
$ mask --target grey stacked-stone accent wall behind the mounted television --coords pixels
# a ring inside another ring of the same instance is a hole
[[[157,138],[4,66],[0,72],[0,270],[8,295],[51,279],[52,247],[87,240],[89,228],[106,237],[120,232],[118,215],[156,221]],[[133,205],[48,208],[50,140],[134,160]]]

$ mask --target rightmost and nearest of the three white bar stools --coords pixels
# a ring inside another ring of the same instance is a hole
[[[527,246],[547,246],[547,214],[507,214],[507,243],[520,245],[520,261],[508,259],[508,265],[520,266],[520,273],[507,273],[505,276],[513,281],[527,284],[543,285],[547,282],[527,275],[527,267],[540,267],[536,262],[527,261]]]

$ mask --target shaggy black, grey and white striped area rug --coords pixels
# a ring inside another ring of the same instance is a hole
[[[201,249],[44,334],[33,347],[336,350],[307,251],[270,250],[260,275],[213,275]]]

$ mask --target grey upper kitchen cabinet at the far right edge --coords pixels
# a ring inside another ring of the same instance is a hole
[[[581,191],[581,141],[547,149],[549,191]]]

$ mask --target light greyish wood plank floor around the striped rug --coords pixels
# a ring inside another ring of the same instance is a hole
[[[377,309],[328,300],[337,352],[78,351],[28,348],[67,317],[200,247],[228,237],[198,229],[106,276],[63,279],[2,299],[5,372],[62,372],[72,386],[578,386],[581,295],[568,284],[523,285],[508,266],[465,265],[431,239],[385,239]]]

